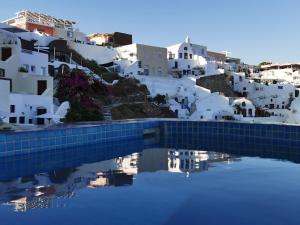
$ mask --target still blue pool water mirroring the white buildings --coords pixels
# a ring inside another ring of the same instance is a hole
[[[0,224],[300,224],[299,158],[137,140],[2,158]]]

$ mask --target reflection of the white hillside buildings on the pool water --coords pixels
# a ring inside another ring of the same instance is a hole
[[[197,150],[148,149],[102,162],[83,164],[0,182],[0,202],[15,211],[64,207],[82,188],[133,184],[137,173],[160,170],[192,173],[208,170],[213,162],[229,162],[227,154]]]

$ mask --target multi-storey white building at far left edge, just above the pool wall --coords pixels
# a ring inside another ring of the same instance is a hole
[[[58,122],[67,112],[53,104],[48,55],[22,49],[20,38],[0,29],[0,117],[12,124]],[[63,113],[63,111],[65,111]],[[63,113],[57,115],[56,113]]]

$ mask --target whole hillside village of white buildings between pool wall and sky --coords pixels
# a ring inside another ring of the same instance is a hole
[[[247,65],[189,37],[149,46],[20,11],[0,23],[0,120],[23,127],[151,117],[300,123],[299,71],[297,63]]]

